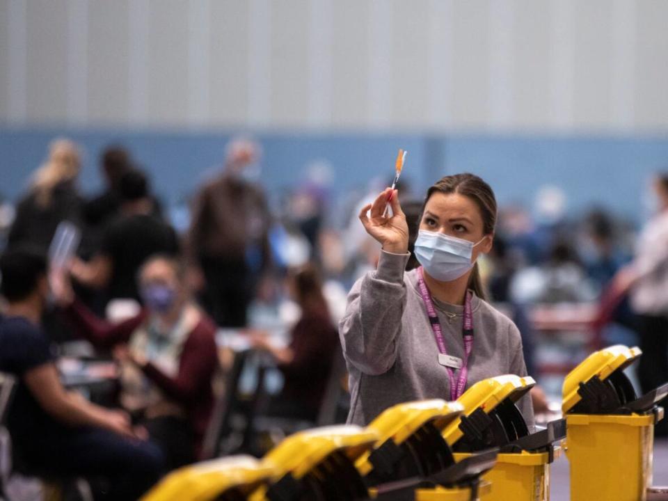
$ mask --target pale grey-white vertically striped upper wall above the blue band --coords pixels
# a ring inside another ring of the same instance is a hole
[[[0,123],[654,132],[663,0],[0,0]]]

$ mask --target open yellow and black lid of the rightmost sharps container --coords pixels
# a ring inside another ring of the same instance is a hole
[[[564,379],[564,414],[630,414],[653,411],[668,395],[668,384],[638,398],[624,369],[642,355],[623,344],[594,351]]]

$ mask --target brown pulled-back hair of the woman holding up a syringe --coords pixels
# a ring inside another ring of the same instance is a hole
[[[494,197],[494,192],[492,191],[491,186],[484,182],[480,177],[469,173],[441,177],[440,180],[430,186],[427,190],[427,196],[424,198],[422,211],[420,211],[420,219],[418,219],[418,221],[422,221],[424,207],[434,193],[445,193],[445,195],[459,193],[460,195],[473,200],[480,210],[480,216],[482,216],[484,234],[494,234],[497,210],[496,198]],[[485,287],[480,279],[477,263],[473,267],[473,273],[471,273],[469,278],[468,288],[472,289],[479,298],[487,298]]]

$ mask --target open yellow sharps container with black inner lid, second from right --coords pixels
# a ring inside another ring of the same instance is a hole
[[[550,463],[564,436],[564,421],[549,423],[530,434],[516,402],[535,385],[530,377],[497,376],[472,385],[457,401],[464,407],[458,420],[443,431],[457,461],[472,452],[499,447],[496,466],[484,479],[492,491],[482,500],[547,501]]]

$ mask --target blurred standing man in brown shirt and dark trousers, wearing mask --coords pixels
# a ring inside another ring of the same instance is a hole
[[[257,184],[260,154],[255,141],[230,141],[223,171],[193,204],[186,243],[191,282],[219,326],[246,326],[248,305],[271,264],[271,214]]]

